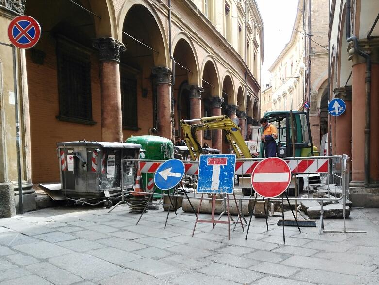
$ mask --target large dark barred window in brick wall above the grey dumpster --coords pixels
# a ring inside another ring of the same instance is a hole
[[[59,116],[63,121],[92,121],[90,51],[64,37],[57,40]]]

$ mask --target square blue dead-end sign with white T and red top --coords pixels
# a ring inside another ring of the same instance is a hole
[[[235,154],[201,155],[197,193],[233,194]]]

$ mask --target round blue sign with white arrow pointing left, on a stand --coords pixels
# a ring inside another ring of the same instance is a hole
[[[170,159],[162,163],[154,176],[154,183],[159,189],[169,190],[179,184],[185,172],[184,164],[179,159]]]

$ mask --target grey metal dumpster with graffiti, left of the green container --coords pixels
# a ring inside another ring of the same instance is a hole
[[[121,159],[139,158],[140,148],[135,143],[57,143],[62,193],[68,200],[90,205],[103,202],[110,208],[110,198],[121,194]],[[133,167],[126,167],[124,185],[133,184],[135,174]]]

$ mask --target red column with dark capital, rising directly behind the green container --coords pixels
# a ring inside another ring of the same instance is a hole
[[[156,66],[151,69],[157,87],[157,127],[158,134],[167,139],[172,138],[171,131],[171,78],[168,67]]]

